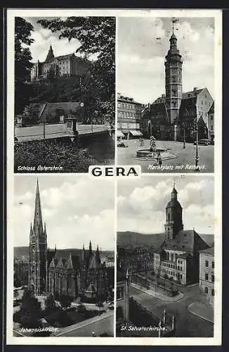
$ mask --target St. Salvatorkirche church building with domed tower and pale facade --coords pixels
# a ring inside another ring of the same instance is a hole
[[[183,230],[183,208],[175,184],[165,213],[164,242],[154,253],[155,273],[184,285],[198,282],[199,252],[209,245],[195,230]]]

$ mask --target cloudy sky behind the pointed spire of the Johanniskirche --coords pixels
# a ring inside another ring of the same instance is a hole
[[[28,246],[34,220],[37,176],[16,175],[14,246]],[[87,175],[39,175],[43,222],[48,246],[114,251],[114,182]],[[101,196],[103,194],[103,196]]]

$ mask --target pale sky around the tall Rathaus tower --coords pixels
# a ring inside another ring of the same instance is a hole
[[[214,18],[178,18],[174,25],[183,56],[183,92],[209,89],[214,97]],[[117,89],[140,103],[164,94],[164,57],[171,18],[119,18]]]

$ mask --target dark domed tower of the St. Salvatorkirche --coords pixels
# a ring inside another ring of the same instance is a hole
[[[164,225],[165,229],[165,240],[171,241],[176,237],[176,234],[183,230],[182,221],[182,207],[177,200],[177,191],[174,188],[171,191],[171,200],[166,206],[166,223]]]

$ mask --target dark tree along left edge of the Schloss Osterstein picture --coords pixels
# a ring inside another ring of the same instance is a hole
[[[30,97],[30,86],[25,80],[30,75],[32,59],[30,44],[34,27],[24,18],[15,17],[15,113],[22,113]]]

